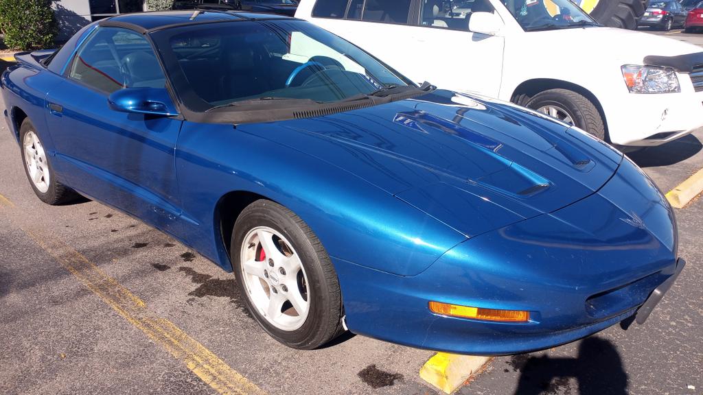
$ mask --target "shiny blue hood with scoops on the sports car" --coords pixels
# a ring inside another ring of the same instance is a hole
[[[467,237],[591,195],[622,159],[553,119],[451,91],[239,128],[349,171]]]

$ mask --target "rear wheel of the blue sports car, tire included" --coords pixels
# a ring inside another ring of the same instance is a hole
[[[30,181],[34,194],[42,202],[49,205],[59,205],[72,200],[76,193],[58,182],[49,155],[46,155],[44,144],[41,143],[37,129],[25,118],[20,126],[20,143],[22,143],[22,163],[25,164],[25,174]]]

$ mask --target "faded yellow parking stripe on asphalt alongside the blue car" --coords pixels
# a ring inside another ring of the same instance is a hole
[[[117,283],[98,266],[64,242],[37,230],[22,229],[54,259],[62,264],[103,302],[139,328],[153,342],[167,349],[176,359],[220,394],[264,395],[256,384],[229,367],[212,351],[188,336],[171,321],[161,318],[127,288]]]

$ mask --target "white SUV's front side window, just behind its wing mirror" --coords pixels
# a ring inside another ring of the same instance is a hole
[[[469,30],[472,13],[492,13],[495,8],[488,0],[422,0],[420,24],[450,30]]]

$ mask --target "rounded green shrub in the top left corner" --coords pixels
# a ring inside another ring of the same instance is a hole
[[[51,48],[57,32],[51,1],[0,0],[0,31],[8,48]]]

